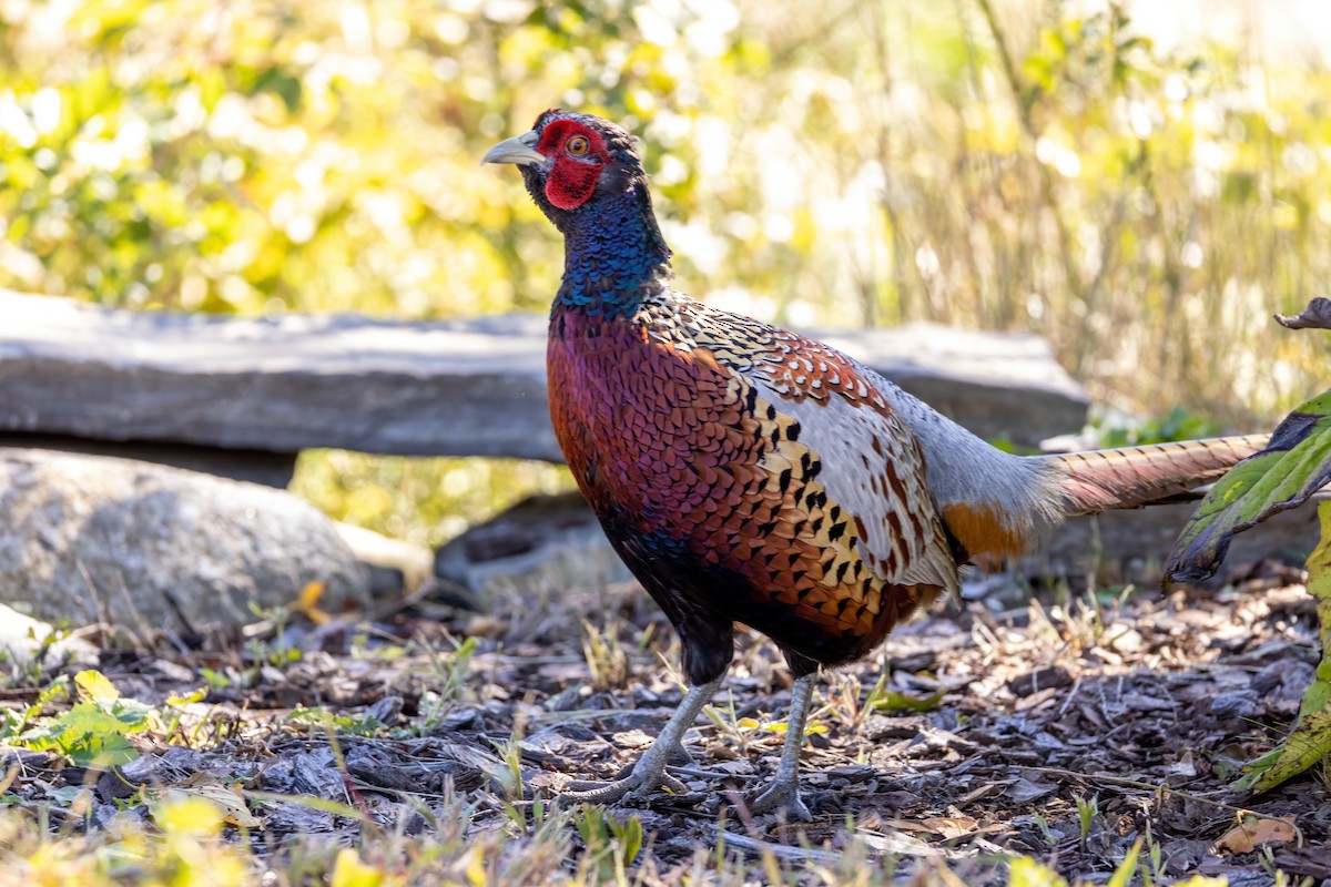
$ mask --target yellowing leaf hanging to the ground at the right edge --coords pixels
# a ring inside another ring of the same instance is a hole
[[[1299,718],[1284,742],[1244,767],[1234,787],[1267,791],[1331,755],[1331,503],[1318,507],[1322,541],[1308,556],[1308,593],[1318,605],[1322,662],[1303,693]]]

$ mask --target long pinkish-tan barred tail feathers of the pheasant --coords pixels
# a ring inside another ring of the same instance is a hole
[[[1065,513],[1137,508],[1211,483],[1266,447],[1270,435],[1210,438],[1041,456],[1065,495]]]

